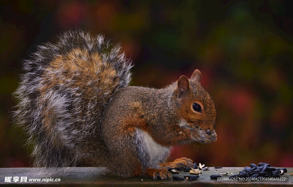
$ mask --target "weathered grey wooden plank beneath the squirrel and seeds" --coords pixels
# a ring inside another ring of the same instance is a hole
[[[171,180],[156,180],[148,177],[131,177],[121,178],[117,176],[109,176],[105,174],[105,168],[97,167],[72,167],[70,169],[64,168],[58,175],[47,176],[47,178],[60,178],[60,182],[29,182],[31,178],[46,178],[41,176],[41,172],[36,168],[0,168],[0,186],[293,186],[293,168],[287,168],[288,172],[282,175],[286,181],[217,181],[210,179],[210,175],[225,173],[227,175],[222,177],[229,177],[233,174],[238,174],[243,170],[243,167],[224,167],[222,169],[214,169],[209,167],[210,171],[202,171],[200,178],[195,181],[175,181]],[[63,172],[61,174],[61,172]],[[187,176],[192,175],[189,172],[180,172],[179,174],[172,174],[173,176]],[[13,177],[27,177],[27,182],[13,182]],[[4,182],[5,177],[12,177],[11,182]]]

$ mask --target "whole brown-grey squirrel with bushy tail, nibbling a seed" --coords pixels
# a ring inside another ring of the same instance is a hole
[[[81,30],[59,35],[23,61],[17,125],[33,145],[34,166],[60,168],[80,161],[108,173],[170,179],[172,146],[217,140],[216,110],[201,72],[162,89],[128,86],[132,62],[120,45]]]

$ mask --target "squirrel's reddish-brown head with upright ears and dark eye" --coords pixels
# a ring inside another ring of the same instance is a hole
[[[213,130],[216,126],[216,109],[212,97],[200,84],[201,77],[196,69],[190,79],[181,76],[177,81],[180,126]]]

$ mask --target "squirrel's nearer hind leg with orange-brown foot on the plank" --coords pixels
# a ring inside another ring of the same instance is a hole
[[[149,166],[146,145],[136,128],[128,127],[127,130],[114,128],[111,130],[112,133],[107,134],[105,138],[109,150],[107,168],[111,174],[125,177],[144,175],[150,176],[154,180],[157,177],[162,180],[172,177],[166,168],[161,168],[159,165]],[[113,138],[115,135],[119,136]]]

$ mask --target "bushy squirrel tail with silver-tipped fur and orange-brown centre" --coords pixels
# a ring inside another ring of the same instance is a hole
[[[130,82],[131,62],[119,45],[80,30],[37,47],[25,60],[13,112],[33,144],[36,167],[74,166],[85,137],[99,134],[112,94]],[[98,140],[96,140],[98,141]]]

